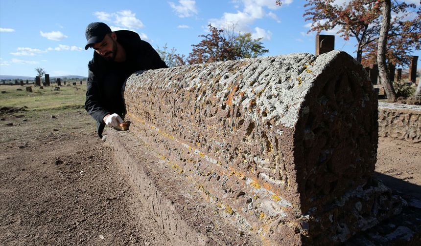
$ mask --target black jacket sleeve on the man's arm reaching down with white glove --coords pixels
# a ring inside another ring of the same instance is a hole
[[[98,123],[104,123],[103,119],[110,112],[104,110],[100,103],[100,91],[97,78],[94,72],[89,69],[88,81],[86,83],[85,109]]]

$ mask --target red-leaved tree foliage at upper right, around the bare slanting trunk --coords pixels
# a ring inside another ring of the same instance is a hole
[[[372,61],[375,61],[377,50],[377,39],[379,37],[381,19],[381,1],[380,0],[351,0],[346,4],[339,6],[334,4],[335,0],[307,0],[304,4],[306,12],[304,13],[305,21],[312,21],[311,31],[320,33],[321,31],[331,30],[339,27],[338,33],[345,40],[354,37],[357,41],[356,60],[362,62],[362,54],[364,51],[374,50]],[[397,42],[395,48],[404,54],[408,54],[408,50],[404,47],[413,44],[416,35],[413,31],[417,30],[414,26],[419,26],[417,19],[406,22],[403,28],[403,19],[408,17],[411,8],[415,8],[415,4],[406,4],[405,2],[394,2],[392,11],[394,15],[399,16],[390,26],[393,32],[389,36],[396,37]],[[418,27],[419,30],[419,27]],[[401,38],[398,38],[401,37]],[[408,39],[410,38],[410,39]],[[369,47],[371,46],[371,48]],[[396,53],[396,51],[395,51]]]

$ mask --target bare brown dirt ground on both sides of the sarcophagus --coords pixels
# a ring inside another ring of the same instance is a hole
[[[0,245],[170,245],[83,109],[0,112]],[[380,138],[376,175],[421,199],[421,143]]]

